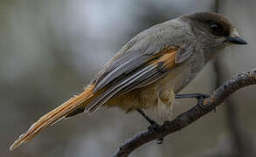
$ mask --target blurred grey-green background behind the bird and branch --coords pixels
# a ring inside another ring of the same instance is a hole
[[[255,7],[253,0],[1,0],[0,156],[110,156],[147,128],[138,113],[102,109],[80,114],[13,152],[9,147],[35,120],[81,92],[128,39],[184,13],[218,10],[249,44],[226,49],[183,92],[211,93],[233,75],[256,68]],[[131,156],[253,156],[255,92],[255,86],[236,92],[228,106]],[[175,114],[195,104],[195,99],[178,100]]]

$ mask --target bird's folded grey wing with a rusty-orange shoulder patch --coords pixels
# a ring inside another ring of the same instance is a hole
[[[177,49],[176,46],[162,44],[154,49],[150,47],[144,53],[142,51],[124,53],[101,72],[95,81],[93,91],[100,94],[86,106],[85,111],[93,113],[108,99],[163,78],[175,65]]]

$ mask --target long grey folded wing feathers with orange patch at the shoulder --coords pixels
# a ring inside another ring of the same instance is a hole
[[[105,90],[86,106],[85,111],[93,113],[108,99],[163,78],[168,73],[167,71],[174,67],[177,50],[177,47],[171,46],[159,51],[156,55],[140,56],[129,60],[128,65],[125,63],[125,66],[117,66],[112,72],[108,72],[104,78],[101,78],[100,81],[103,83],[99,83],[101,87],[99,89]]]

